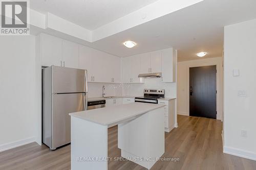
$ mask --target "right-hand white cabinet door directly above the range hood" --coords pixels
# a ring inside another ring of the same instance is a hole
[[[155,51],[150,53],[150,72],[161,72],[162,67],[162,59],[161,59],[161,51]]]

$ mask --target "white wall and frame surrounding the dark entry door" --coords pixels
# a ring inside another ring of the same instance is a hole
[[[217,66],[217,119],[223,117],[223,58],[190,60],[177,63],[178,114],[189,116],[189,67]]]

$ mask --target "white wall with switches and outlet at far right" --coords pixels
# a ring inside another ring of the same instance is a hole
[[[256,19],[224,31],[224,152],[256,160]],[[240,70],[233,77],[233,69]],[[238,96],[244,90],[246,97]],[[247,131],[247,137],[241,131]]]

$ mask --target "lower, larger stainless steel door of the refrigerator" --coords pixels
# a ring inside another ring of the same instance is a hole
[[[83,111],[87,107],[87,93],[52,94],[52,150],[70,143],[69,113]]]

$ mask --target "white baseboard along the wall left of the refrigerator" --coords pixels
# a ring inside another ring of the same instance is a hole
[[[29,137],[27,139],[21,139],[14,142],[0,144],[0,152],[10,150],[16,147],[20,147],[24,144],[32,143],[36,141],[36,137]]]

